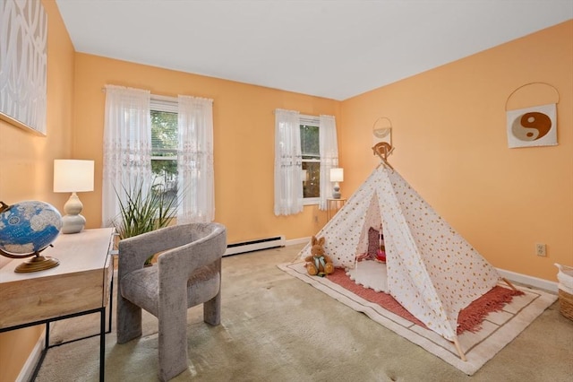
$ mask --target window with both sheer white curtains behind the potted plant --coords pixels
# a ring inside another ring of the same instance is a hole
[[[212,118],[212,100],[107,85],[102,224],[119,216],[115,191],[138,183],[177,195],[177,224],[213,221]]]

